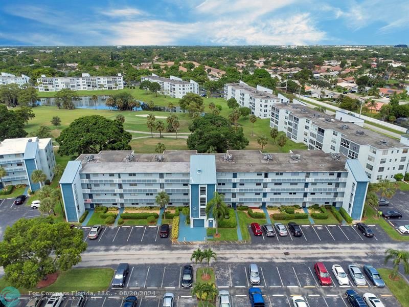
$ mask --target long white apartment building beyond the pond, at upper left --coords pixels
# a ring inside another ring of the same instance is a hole
[[[40,92],[57,92],[62,89],[71,91],[96,91],[96,90],[123,90],[124,80],[122,74],[118,76],[92,77],[82,74],[81,77],[46,77],[41,75],[37,79]]]

